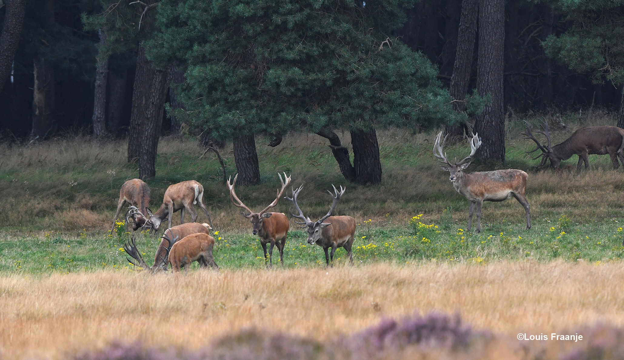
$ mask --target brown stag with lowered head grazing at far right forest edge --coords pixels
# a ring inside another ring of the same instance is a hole
[[[548,132],[548,122],[544,120],[542,125],[542,131],[535,131],[535,133],[543,134],[546,136],[547,145],[540,144],[535,139],[535,136],[531,133],[531,128],[527,121],[524,122],[527,126],[527,131],[522,133],[523,139],[531,139],[537,144],[537,148],[527,153],[534,153],[537,150],[541,150],[542,154],[535,159],[542,158],[539,167],[546,164],[546,161],[550,159],[550,165],[559,169],[563,160],[570,159],[572,155],[578,155],[577,171],[580,170],[581,165],[585,163],[585,169],[589,169],[590,154],[605,155],[609,154],[611,162],[613,163],[613,169],[620,168],[618,163],[618,157],[624,165],[624,155],[622,154],[622,147],[624,146],[624,129],[617,128],[616,126],[591,126],[589,128],[580,128],[575,131],[570,138],[563,141],[561,144],[550,146],[550,132]]]

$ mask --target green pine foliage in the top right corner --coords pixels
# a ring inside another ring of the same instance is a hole
[[[570,69],[591,71],[595,83],[624,83],[624,0],[559,0],[553,5],[574,25],[547,37],[547,56]]]

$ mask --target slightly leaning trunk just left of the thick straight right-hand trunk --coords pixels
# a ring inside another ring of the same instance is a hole
[[[462,0],[462,16],[459,21],[459,33],[457,35],[457,52],[455,64],[451,76],[451,88],[449,92],[456,101],[453,101],[453,109],[466,111],[466,99],[470,71],[472,70],[472,56],[474,53],[474,39],[477,31],[477,16],[479,15],[479,0]],[[464,134],[464,124],[455,124],[447,127],[446,132],[451,138]]]

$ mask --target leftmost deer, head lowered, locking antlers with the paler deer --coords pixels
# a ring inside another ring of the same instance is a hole
[[[145,209],[150,204],[150,187],[141,179],[128,180],[121,186],[119,201],[117,201],[117,213],[113,219],[113,227],[110,228],[110,231],[115,229],[115,221],[117,221],[121,208],[126,203],[130,204],[130,207],[125,213],[125,222],[130,222],[132,230],[137,231],[147,222],[147,217],[144,214]]]

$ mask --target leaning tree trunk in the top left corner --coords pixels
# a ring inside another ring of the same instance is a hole
[[[24,24],[24,5],[26,0],[7,0],[4,12],[4,24],[0,34],[0,91],[11,73],[13,59]]]

